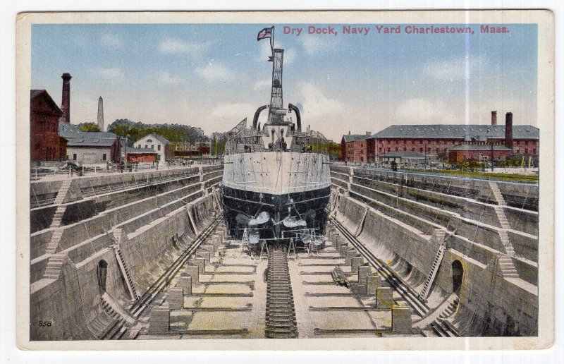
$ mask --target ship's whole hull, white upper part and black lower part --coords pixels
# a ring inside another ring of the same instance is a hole
[[[290,231],[324,233],[331,185],[328,156],[255,152],[228,154],[224,162],[221,195],[233,236],[240,238],[251,227],[268,241],[295,236]],[[268,222],[249,226],[262,212],[269,214]],[[300,226],[288,226],[284,219],[290,218]]]

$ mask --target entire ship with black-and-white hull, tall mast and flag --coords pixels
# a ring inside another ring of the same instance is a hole
[[[298,107],[283,106],[284,50],[274,48],[274,27],[259,32],[262,39],[271,42],[270,104],[257,109],[250,128],[245,119],[230,132],[221,186],[226,224],[251,244],[315,241],[324,233],[330,195],[329,155],[318,152],[326,138],[309,127],[302,131]]]

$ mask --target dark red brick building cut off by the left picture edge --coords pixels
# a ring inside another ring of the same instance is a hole
[[[30,93],[30,159],[32,162],[66,158],[66,138],[59,136],[63,111],[46,90]]]

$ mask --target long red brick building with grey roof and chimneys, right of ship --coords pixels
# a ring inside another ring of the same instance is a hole
[[[363,163],[374,162],[390,152],[416,152],[429,159],[460,162],[480,157],[488,159],[491,145],[494,145],[494,159],[510,154],[538,156],[539,129],[529,125],[513,126],[511,113],[505,115],[505,125],[498,125],[496,111],[491,112],[491,125],[392,125],[374,135],[343,135],[341,158]]]

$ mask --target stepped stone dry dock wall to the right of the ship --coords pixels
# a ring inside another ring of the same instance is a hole
[[[373,253],[386,262],[415,292],[422,290],[439,249],[436,232],[446,231],[445,251],[431,285],[431,310],[453,293],[453,265],[462,266],[460,304],[452,323],[464,336],[534,336],[537,334],[538,213],[503,206],[513,229],[507,233],[515,248],[512,256],[517,278],[505,278],[499,258],[505,247],[500,223],[488,195],[490,187],[457,186],[456,195],[430,189],[433,183],[405,186],[401,178],[383,173],[384,178],[357,177],[357,169],[331,167],[334,198],[333,216],[342,222]],[[374,174],[374,172],[371,172]],[[385,181],[381,181],[381,180]],[[441,181],[443,183],[443,181]],[[448,183],[448,182],[447,182]],[[451,183],[452,185],[452,183]],[[346,187],[343,187],[346,186]],[[427,189],[420,188],[427,186]],[[519,190],[504,198],[521,200],[538,193]],[[421,198],[423,196],[423,198]],[[521,200],[522,201],[522,200]],[[531,205],[529,205],[530,207]],[[364,210],[364,224],[359,226]]]

